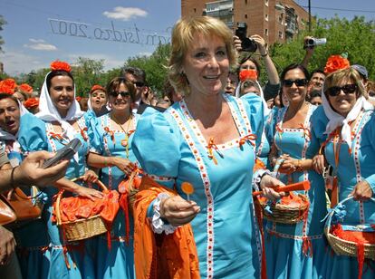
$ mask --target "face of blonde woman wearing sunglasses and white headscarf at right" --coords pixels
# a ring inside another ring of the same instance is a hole
[[[335,86],[342,87],[347,84],[355,84],[355,82],[351,81],[350,79],[345,79],[345,80],[341,80],[341,82],[339,82],[338,84],[335,84]],[[355,102],[357,101],[357,98],[358,98],[358,91],[345,94],[341,90],[340,94],[337,96],[332,97],[328,95],[328,101],[330,101],[332,109],[334,111],[337,111],[344,117],[346,117],[348,113],[351,111],[351,109],[354,107]]]

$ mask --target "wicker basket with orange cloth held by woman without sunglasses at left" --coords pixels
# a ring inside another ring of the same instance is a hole
[[[81,178],[74,178],[72,182],[77,180],[82,180]],[[108,190],[105,185],[98,180],[96,182],[103,191]],[[98,236],[107,232],[107,228],[101,219],[100,215],[91,216],[87,219],[80,219],[74,222],[62,222],[61,212],[60,212],[60,203],[63,197],[63,190],[61,190],[56,198],[56,220],[57,226],[61,226],[63,228],[63,234],[66,241],[78,241],[86,238],[90,238],[92,236]]]

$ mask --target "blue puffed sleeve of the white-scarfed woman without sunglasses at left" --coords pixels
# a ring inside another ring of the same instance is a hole
[[[48,151],[45,123],[34,114],[26,113],[21,117],[18,141],[25,153],[37,150]]]

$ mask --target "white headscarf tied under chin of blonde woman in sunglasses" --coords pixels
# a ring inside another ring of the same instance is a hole
[[[370,104],[370,102],[367,101],[363,96],[361,96],[357,99],[353,108],[351,109],[351,111],[349,111],[348,115],[345,118],[341,114],[332,110],[330,102],[327,100],[327,97],[325,97],[324,93],[322,93],[322,107],[325,115],[329,119],[329,122],[325,129],[325,133],[331,134],[332,131],[337,127],[342,126],[341,139],[348,143],[349,148],[351,148],[351,125],[349,125],[349,122],[357,119],[362,110],[373,110],[373,106]]]

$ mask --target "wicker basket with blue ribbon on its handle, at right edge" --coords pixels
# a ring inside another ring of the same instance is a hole
[[[343,203],[350,200],[352,197],[347,197],[341,201],[336,207],[341,206]],[[375,198],[370,198],[373,202],[375,202]],[[327,218],[325,227],[324,227],[324,234],[327,237],[328,243],[331,245],[333,251],[337,255],[349,255],[357,257],[357,244],[355,242],[343,240],[338,236],[334,236],[331,233],[331,221],[332,216],[334,214],[334,210],[332,210]],[[375,260],[375,245],[365,244],[364,245],[364,256],[365,258],[369,258]]]

